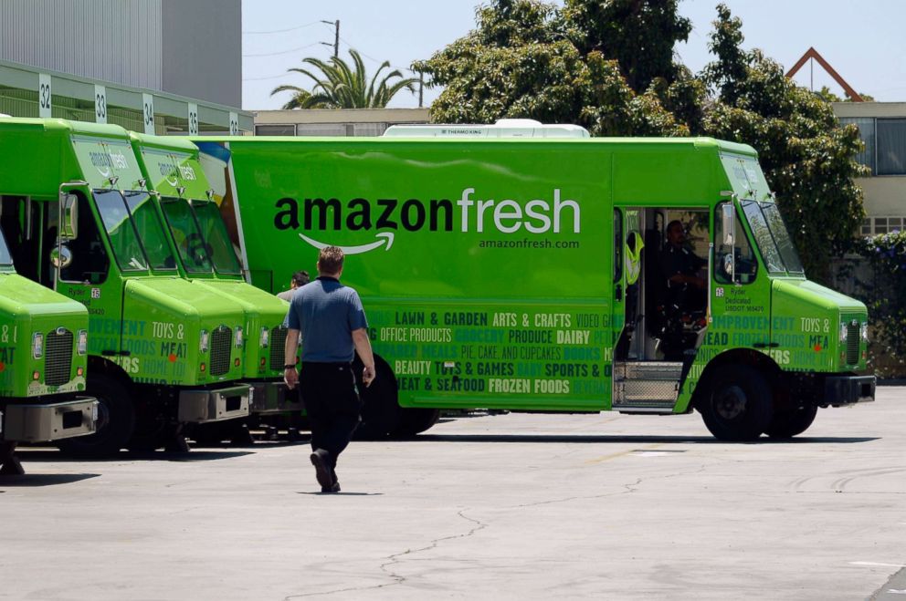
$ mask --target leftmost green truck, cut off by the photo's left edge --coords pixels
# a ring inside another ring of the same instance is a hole
[[[0,475],[9,475],[23,473],[17,443],[94,432],[98,402],[85,395],[88,311],[16,274],[22,246],[11,249],[3,230],[26,223],[4,209],[0,202]]]

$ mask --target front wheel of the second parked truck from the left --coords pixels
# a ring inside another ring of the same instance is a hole
[[[107,457],[119,452],[135,430],[135,409],[129,392],[108,376],[89,376],[87,392],[98,399],[97,431],[60,440],[60,451],[79,457]]]

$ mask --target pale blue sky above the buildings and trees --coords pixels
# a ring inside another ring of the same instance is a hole
[[[242,3],[242,108],[279,109],[290,93],[270,96],[282,84],[309,88],[308,78],[287,73],[304,57],[333,53],[333,22],[340,21],[340,56],[349,48],[363,57],[369,76],[389,60],[406,77],[413,61],[431,57],[475,28],[478,0],[245,0]],[[562,4],[562,3],[560,3]],[[692,21],[689,41],[675,50],[698,72],[710,60],[708,39],[717,0],[680,0],[679,13]],[[743,47],[760,48],[788,69],[808,47],[834,67],[860,94],[879,101],[906,100],[906,2],[902,0],[725,0],[743,20]],[[329,21],[330,24],[321,23]],[[326,43],[326,44],[325,44]],[[806,88],[842,88],[824,69],[808,63],[795,81]],[[425,106],[439,89],[425,89]],[[389,105],[418,106],[403,91]]]

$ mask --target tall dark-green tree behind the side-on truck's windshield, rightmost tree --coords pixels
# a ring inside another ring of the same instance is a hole
[[[861,150],[855,126],[840,127],[833,110],[758,51],[743,51],[742,22],[725,5],[711,34],[716,60],[702,78],[715,90],[702,133],[740,141],[759,161],[806,271],[829,281],[828,258],[852,243],[864,216],[853,179],[867,175],[854,159]]]

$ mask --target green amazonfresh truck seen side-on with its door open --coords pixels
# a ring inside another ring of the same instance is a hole
[[[575,130],[220,139],[253,284],[345,250],[379,357],[366,430],[696,409],[721,440],[786,438],[874,398],[866,307],[806,278],[751,147]]]

